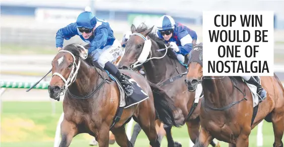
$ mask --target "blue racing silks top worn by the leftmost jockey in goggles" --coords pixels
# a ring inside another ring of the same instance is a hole
[[[79,35],[80,38],[86,43],[90,44],[91,47],[88,49],[88,54],[94,50],[100,48],[103,49],[105,46],[113,45],[115,37],[113,31],[109,26],[109,23],[96,18],[96,26],[93,30],[93,35],[89,39],[84,39],[82,33],[77,28],[76,23],[71,23],[64,28],[61,28],[56,33],[56,47],[63,47],[63,40],[69,40],[75,35]]]

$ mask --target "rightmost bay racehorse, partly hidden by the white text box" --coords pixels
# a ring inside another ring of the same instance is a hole
[[[277,76],[260,78],[267,97],[253,107],[253,95],[241,77],[202,76],[202,52],[200,43],[186,56],[188,90],[195,91],[196,85],[201,83],[204,93],[200,108],[201,130],[194,146],[208,146],[217,138],[228,142],[229,146],[247,147],[251,129],[265,119],[273,124],[273,146],[283,147],[284,89]]]

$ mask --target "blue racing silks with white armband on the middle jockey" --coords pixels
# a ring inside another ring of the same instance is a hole
[[[163,36],[159,31],[156,34],[158,37],[163,39]],[[197,40],[197,34],[195,31],[183,26],[180,23],[175,23],[173,36],[169,41],[165,41],[165,43],[175,42],[179,48],[178,54],[182,54],[183,56],[188,54],[192,49],[192,40]]]

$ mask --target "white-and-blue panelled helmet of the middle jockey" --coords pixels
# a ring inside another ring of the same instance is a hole
[[[157,30],[169,30],[175,28],[175,21],[172,17],[164,15],[158,19]]]

